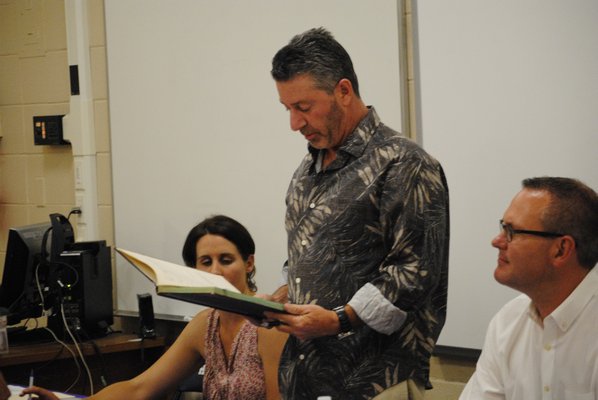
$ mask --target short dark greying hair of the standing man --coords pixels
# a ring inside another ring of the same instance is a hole
[[[341,79],[348,79],[359,97],[357,75],[349,53],[324,28],[313,28],[294,36],[272,59],[272,77],[286,82],[310,75],[316,87],[332,93]]]

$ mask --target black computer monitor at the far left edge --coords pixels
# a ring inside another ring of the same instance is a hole
[[[0,285],[0,307],[8,309],[8,325],[42,315],[43,288],[49,272],[43,257],[49,249],[50,227],[49,223],[40,223],[8,231]]]

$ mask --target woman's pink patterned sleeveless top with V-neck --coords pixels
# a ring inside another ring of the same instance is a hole
[[[233,340],[227,360],[218,328],[220,314],[208,315],[206,335],[206,369],[203,395],[209,400],[262,400],[266,398],[266,383],[262,360],[257,351],[257,327],[245,321]]]

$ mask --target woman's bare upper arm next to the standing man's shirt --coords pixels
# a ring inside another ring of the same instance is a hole
[[[257,349],[264,366],[266,379],[266,399],[280,399],[278,390],[278,364],[284,344],[289,337],[276,329],[258,328]]]

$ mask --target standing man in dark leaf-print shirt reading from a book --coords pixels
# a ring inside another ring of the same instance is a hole
[[[289,315],[268,314],[293,335],[283,398],[421,398],[446,316],[442,168],[365,106],[325,29],[291,39],[272,77],[309,143],[286,196]]]

